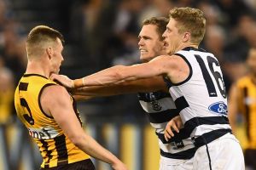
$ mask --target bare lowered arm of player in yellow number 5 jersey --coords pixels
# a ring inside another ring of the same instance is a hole
[[[44,112],[54,117],[55,122],[80,150],[99,160],[108,162],[114,169],[126,169],[116,156],[113,156],[111,152],[104,149],[84,132],[73,111],[70,95],[65,88],[58,85],[45,88],[41,96],[41,105]]]

